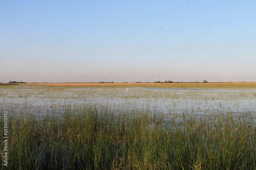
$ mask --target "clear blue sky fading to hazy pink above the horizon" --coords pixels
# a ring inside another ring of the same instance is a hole
[[[255,82],[255,6],[1,0],[0,82]]]

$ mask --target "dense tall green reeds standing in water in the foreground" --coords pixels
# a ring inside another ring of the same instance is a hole
[[[6,169],[256,168],[255,113],[69,103],[44,116],[25,108],[8,121]]]

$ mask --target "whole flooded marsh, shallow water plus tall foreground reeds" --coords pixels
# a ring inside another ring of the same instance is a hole
[[[143,85],[0,86],[1,168],[256,169],[255,87]]]

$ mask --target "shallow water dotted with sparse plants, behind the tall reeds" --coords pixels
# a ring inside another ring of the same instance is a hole
[[[13,114],[24,108],[41,115],[51,114],[63,105],[106,105],[161,111],[166,114],[207,114],[222,108],[241,113],[255,112],[255,89],[171,89],[171,88],[81,88],[12,86],[0,89],[0,103]]]

